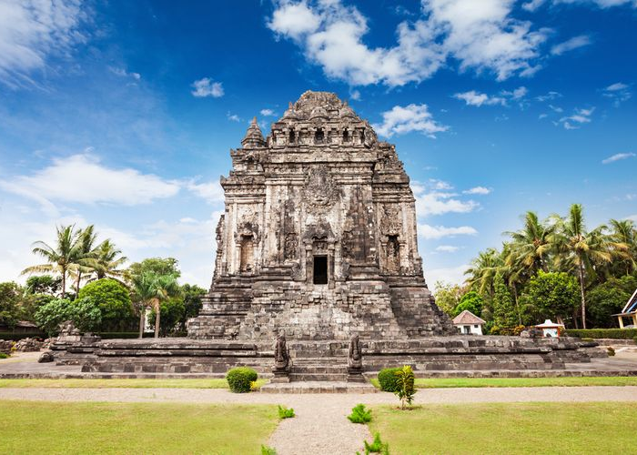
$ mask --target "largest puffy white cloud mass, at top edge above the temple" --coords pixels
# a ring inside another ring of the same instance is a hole
[[[449,57],[460,70],[490,71],[499,80],[531,76],[548,31],[511,17],[513,0],[422,0],[420,19],[403,21],[396,44],[369,47],[367,18],[340,0],[278,0],[268,27],[293,40],[329,77],[352,86],[403,86],[436,73]],[[343,52],[347,49],[348,52]]]

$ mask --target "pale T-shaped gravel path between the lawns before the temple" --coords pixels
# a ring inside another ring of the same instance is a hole
[[[226,389],[0,389],[0,399],[48,401],[123,401],[281,404],[297,413],[283,420],[269,445],[279,455],[338,454],[362,450],[370,440],[366,425],[347,420],[358,403],[397,404],[389,393],[369,394],[234,394]],[[637,401],[637,387],[533,387],[482,389],[420,389],[417,404],[514,401]]]

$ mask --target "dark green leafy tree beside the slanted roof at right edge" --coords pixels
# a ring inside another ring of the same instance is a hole
[[[606,328],[614,325],[616,319],[612,318],[612,315],[622,311],[635,289],[637,278],[632,275],[612,277],[592,288],[586,295],[592,326]]]

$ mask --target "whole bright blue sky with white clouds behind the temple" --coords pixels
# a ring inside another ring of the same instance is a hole
[[[0,280],[56,224],[207,287],[252,116],[336,92],[396,144],[425,277],[520,215],[637,220],[637,2],[0,0]]]

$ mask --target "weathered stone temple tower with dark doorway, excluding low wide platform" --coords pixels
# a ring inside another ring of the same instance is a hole
[[[418,254],[395,147],[338,96],[306,92],[221,177],[226,208],[193,339],[407,339],[456,333]]]

